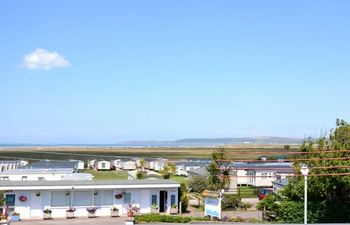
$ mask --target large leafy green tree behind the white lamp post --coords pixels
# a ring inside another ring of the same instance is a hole
[[[350,222],[350,177],[337,175],[350,172],[350,161],[344,160],[350,158],[350,153],[344,151],[349,149],[350,124],[337,119],[336,128],[330,131],[329,136],[305,140],[300,152],[307,154],[294,156],[306,160],[303,162],[307,163],[313,175],[308,178],[308,222]],[[295,173],[299,175],[300,166],[300,163],[294,164]],[[303,191],[302,176],[289,179],[289,184],[279,193],[280,198],[274,199],[274,203],[279,202],[278,207],[270,207],[271,213],[276,215],[275,220],[302,222]],[[261,204],[268,200],[263,200]]]

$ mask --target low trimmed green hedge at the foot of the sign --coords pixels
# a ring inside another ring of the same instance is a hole
[[[135,216],[135,223],[189,223],[191,221],[208,221],[207,217],[170,216],[157,213]]]

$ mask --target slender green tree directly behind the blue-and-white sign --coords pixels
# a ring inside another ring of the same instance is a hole
[[[207,170],[208,189],[212,191],[221,190],[230,185],[230,162],[224,149],[212,153],[213,161],[209,164]]]

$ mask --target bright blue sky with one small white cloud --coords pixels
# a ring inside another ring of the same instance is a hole
[[[0,2],[0,143],[315,136],[350,120],[350,1]]]

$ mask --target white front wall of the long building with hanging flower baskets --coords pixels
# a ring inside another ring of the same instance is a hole
[[[7,194],[15,194],[15,206],[10,207],[20,213],[21,219],[42,219],[43,210],[49,208],[52,210],[53,218],[66,217],[66,209],[71,205],[76,209],[75,217],[87,217],[87,207],[96,206],[97,216],[109,216],[110,209],[115,206],[119,209],[120,215],[126,215],[129,199],[116,199],[116,194],[131,194],[131,203],[140,209],[140,213],[150,213],[152,194],[157,195],[158,204],[160,201],[160,191],[167,191],[166,212],[170,213],[171,195],[178,199],[177,188],[148,188],[148,189],[101,189],[101,190],[31,190],[31,191],[13,191]],[[19,197],[25,196],[26,201],[20,201]],[[89,200],[90,198],[90,200]],[[177,203],[177,202],[176,202]]]

